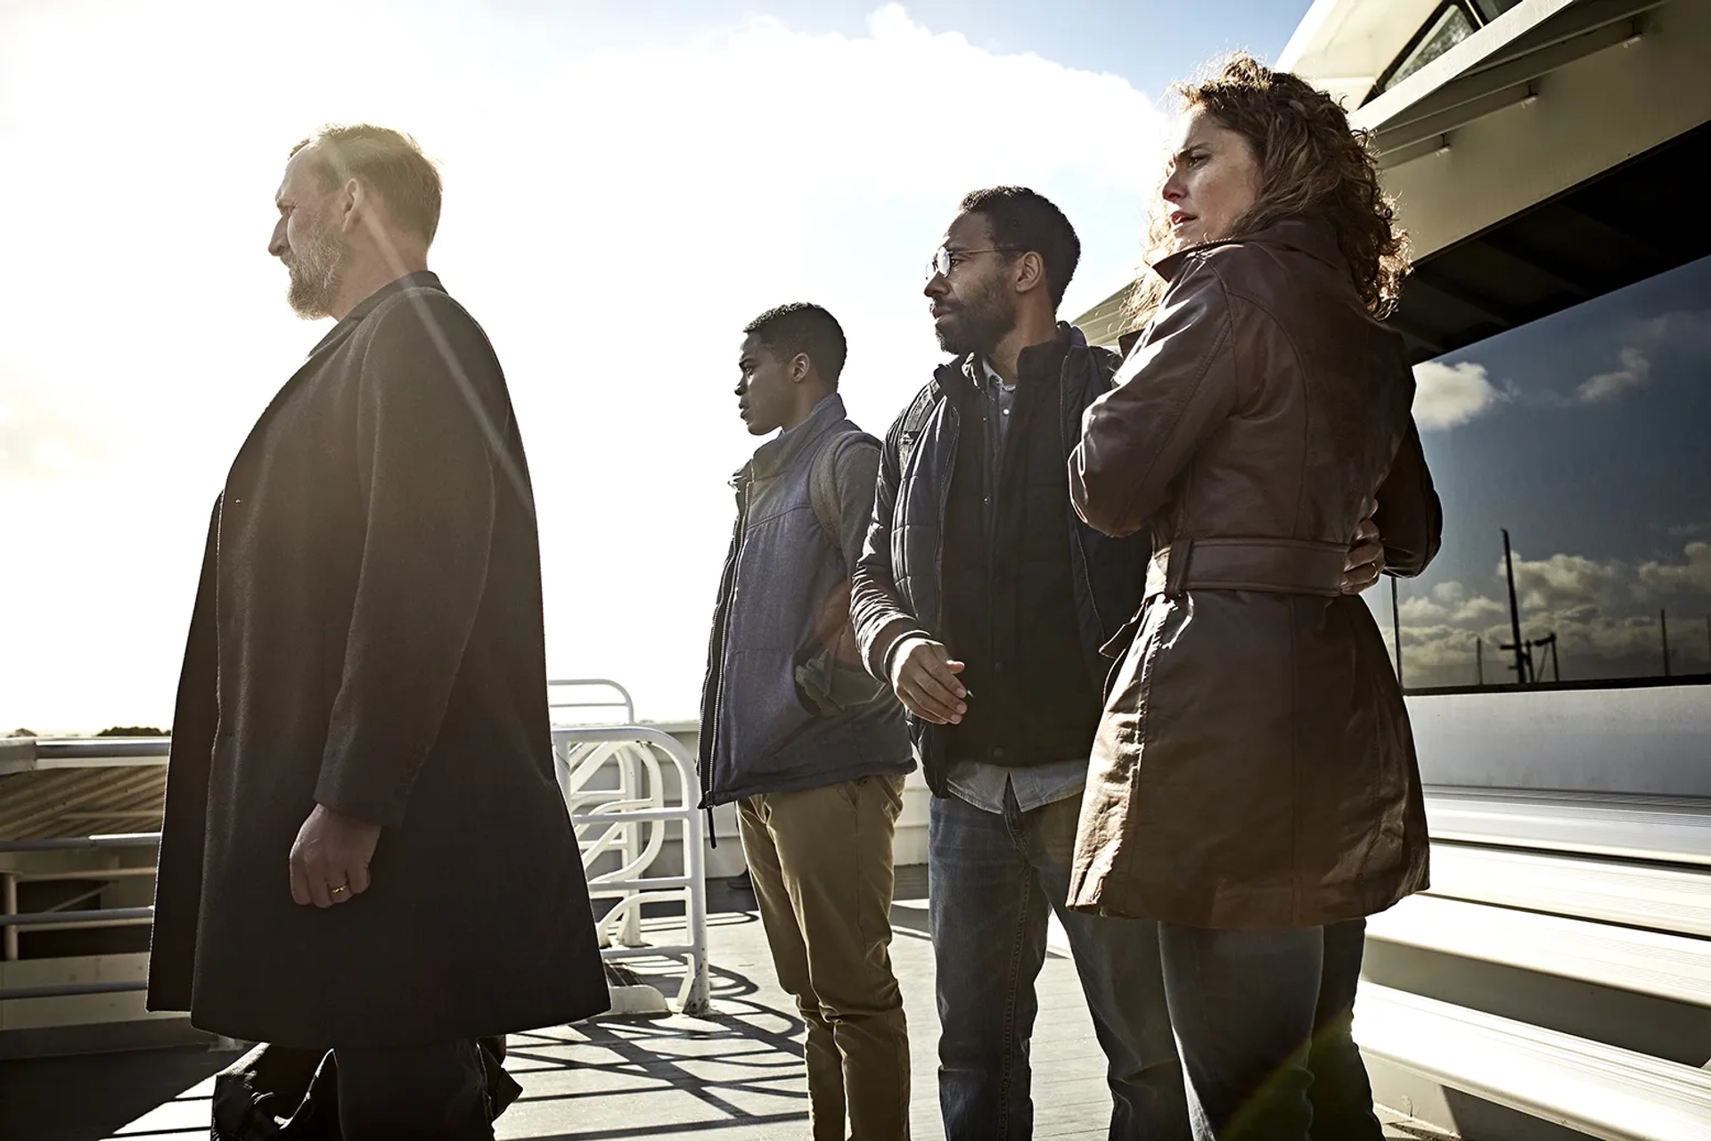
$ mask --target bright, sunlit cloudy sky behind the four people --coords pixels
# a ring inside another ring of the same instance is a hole
[[[1131,275],[1162,92],[1275,58],[1307,0],[0,3],[0,732],[166,725],[209,506],[325,323],[267,255],[291,145],[414,133],[429,258],[491,335],[529,446],[548,672],[691,717],[736,346],[811,299],[883,431],[941,359],[921,265],[968,190],[1083,239],[1075,315]],[[1465,387],[1465,385],[1463,385]]]

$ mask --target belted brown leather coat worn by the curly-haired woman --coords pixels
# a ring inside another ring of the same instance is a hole
[[[1069,460],[1081,518],[1155,551],[1069,905],[1220,929],[1379,912],[1427,884],[1425,809],[1384,640],[1338,583],[1374,496],[1393,573],[1437,553],[1413,375],[1323,222],[1155,270],[1165,299]]]

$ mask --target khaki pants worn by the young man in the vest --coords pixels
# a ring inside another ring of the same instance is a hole
[[[909,1138],[909,1030],[891,973],[891,835],[902,777],[767,792],[737,806],[779,985],[808,1025],[814,1141]]]

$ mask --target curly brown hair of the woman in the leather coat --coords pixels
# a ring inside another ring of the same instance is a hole
[[[1205,108],[1220,127],[1247,139],[1259,161],[1259,197],[1230,226],[1230,238],[1288,216],[1321,217],[1336,233],[1367,311],[1379,318],[1394,311],[1408,274],[1408,236],[1396,226],[1396,204],[1379,186],[1367,132],[1348,127],[1340,103],[1246,51],[1213,63],[1208,79],[1174,84],[1170,94],[1182,111]],[[1167,212],[1153,212],[1148,239],[1148,262],[1170,250]],[[1145,320],[1162,296],[1163,282],[1143,274],[1131,316]]]

